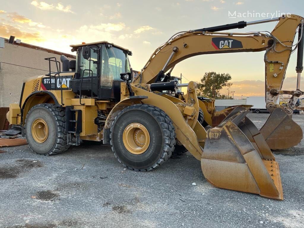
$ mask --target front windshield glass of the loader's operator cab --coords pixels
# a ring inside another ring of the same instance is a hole
[[[101,53],[100,87],[112,88],[113,80],[121,81],[121,73],[131,72],[128,55],[121,49],[116,47],[108,48],[104,44],[102,44]]]

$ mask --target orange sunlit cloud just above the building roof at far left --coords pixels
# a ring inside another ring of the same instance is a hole
[[[9,38],[9,36],[16,36],[17,39],[21,39],[23,42],[32,42],[32,41],[38,41],[41,42],[44,40],[44,38],[40,35],[40,32],[25,32],[20,30],[19,28],[16,28],[14,26],[11,26],[9,24],[2,23],[0,25],[0,36]]]

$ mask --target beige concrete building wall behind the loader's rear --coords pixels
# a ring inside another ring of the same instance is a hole
[[[64,54],[70,60],[75,59],[71,54],[45,49],[29,44],[11,44],[5,39],[4,48],[0,48],[0,107],[9,107],[10,103],[19,103],[23,80],[47,74],[49,63],[44,58]],[[56,72],[55,64],[51,70]]]

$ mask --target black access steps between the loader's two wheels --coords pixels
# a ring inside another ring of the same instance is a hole
[[[67,132],[67,144],[73,146],[80,145],[80,133],[82,132],[82,111],[80,109],[74,109],[74,106],[66,106],[65,130]]]

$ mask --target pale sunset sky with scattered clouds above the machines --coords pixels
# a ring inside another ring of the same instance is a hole
[[[154,50],[176,32],[264,19],[250,14],[229,18],[229,12],[268,13],[267,18],[280,13],[304,16],[304,1],[299,0],[1,1],[5,4],[0,4],[0,37],[13,35],[21,42],[65,53],[71,53],[71,44],[105,40],[132,50],[131,66],[138,71]],[[271,31],[275,24],[229,31]],[[295,90],[295,66],[296,52],[288,65],[285,90]],[[186,83],[199,81],[209,71],[232,76],[230,91],[235,91],[235,98],[264,96],[264,51],[191,57],[178,63],[172,74],[182,73]],[[303,76],[301,83],[303,91]],[[227,92],[226,88],[222,90],[222,94]]]

